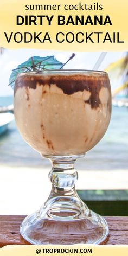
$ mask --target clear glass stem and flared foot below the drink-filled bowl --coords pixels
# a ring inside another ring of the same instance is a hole
[[[20,228],[31,244],[101,244],[106,240],[106,221],[89,210],[76,193],[74,162],[74,156],[52,159],[49,198],[39,211],[24,219]]]

